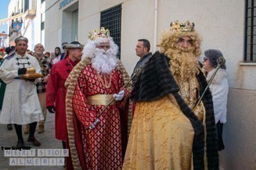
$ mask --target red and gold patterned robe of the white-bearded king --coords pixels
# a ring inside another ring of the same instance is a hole
[[[103,76],[101,76],[103,79]],[[111,77],[111,78],[110,78]],[[111,80],[111,81],[110,81]],[[106,84],[110,83],[110,87]],[[111,76],[102,82],[92,65],[86,66],[78,76],[74,90],[73,109],[76,124],[75,143],[83,169],[121,169],[122,140],[120,109],[127,101],[128,90],[124,89],[124,99],[111,104],[99,117],[94,129],[87,129],[95,121],[106,105],[87,104],[86,96],[94,94],[117,94],[124,82],[120,70],[114,69]],[[80,147],[79,147],[80,146]]]

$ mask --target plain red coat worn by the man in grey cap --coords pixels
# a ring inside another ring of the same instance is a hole
[[[55,113],[55,136],[57,140],[67,141],[67,119],[66,119],[66,94],[64,86],[67,76],[78,62],[70,58],[56,62],[52,66],[46,87],[46,107],[56,106]]]

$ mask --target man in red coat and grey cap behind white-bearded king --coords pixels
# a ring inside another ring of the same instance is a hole
[[[49,80],[46,87],[46,108],[50,113],[55,113],[55,135],[57,140],[61,140],[63,148],[67,142],[67,121],[65,110],[65,98],[67,88],[64,86],[67,76],[69,76],[74,66],[81,60],[84,45],[78,41],[66,44],[67,58],[56,62],[52,66]]]

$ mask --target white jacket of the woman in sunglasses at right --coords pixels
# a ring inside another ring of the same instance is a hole
[[[207,74],[207,81],[211,79],[211,76],[215,73],[215,69],[212,69]],[[215,78],[212,80],[210,85],[210,90],[212,94],[212,101],[214,104],[215,111],[215,123],[220,121],[221,123],[226,122],[227,116],[227,101],[228,101],[228,73],[225,69],[218,69]]]

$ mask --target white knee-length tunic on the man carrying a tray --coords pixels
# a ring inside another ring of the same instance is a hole
[[[41,72],[37,58],[27,53],[22,57],[14,54],[6,58],[0,66],[0,78],[6,83],[5,97],[0,111],[0,123],[25,125],[38,122],[44,117],[38,100],[37,89],[34,82],[18,79],[18,69],[35,68],[36,73]]]

